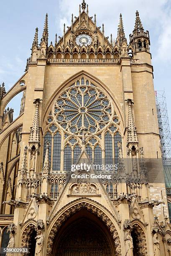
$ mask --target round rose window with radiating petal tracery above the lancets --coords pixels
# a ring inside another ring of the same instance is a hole
[[[57,121],[65,131],[81,135],[84,128],[87,133],[97,133],[111,121],[110,100],[89,81],[83,80],[57,98],[48,123]]]

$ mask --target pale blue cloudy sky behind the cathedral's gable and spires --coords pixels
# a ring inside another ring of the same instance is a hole
[[[5,82],[6,91],[24,73],[26,59],[30,56],[31,45],[38,27],[38,38],[42,36],[44,19],[48,13],[49,44],[55,34],[62,36],[63,24],[70,26],[71,13],[78,15],[82,0],[8,0],[0,2],[0,84]],[[154,67],[155,90],[166,92],[168,116],[171,123],[171,1],[170,0],[86,0],[89,15],[97,14],[97,26],[105,25],[105,36],[117,35],[120,13],[123,14],[125,34],[129,42],[135,24],[135,12],[145,30],[150,33],[152,64]],[[19,98],[16,96],[9,107],[18,116]]]

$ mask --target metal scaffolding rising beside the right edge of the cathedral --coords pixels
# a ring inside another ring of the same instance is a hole
[[[161,153],[166,182],[166,191],[171,193],[171,132],[169,127],[165,91],[155,91]],[[169,189],[170,188],[170,189]]]

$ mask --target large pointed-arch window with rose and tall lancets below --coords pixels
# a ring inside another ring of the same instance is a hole
[[[85,149],[90,160],[94,164],[118,161],[122,151],[120,118],[105,92],[85,77],[59,94],[46,117],[46,124],[43,161],[48,141],[51,171],[70,171],[71,164],[77,163],[85,128]]]

